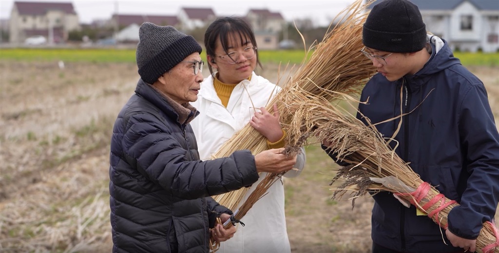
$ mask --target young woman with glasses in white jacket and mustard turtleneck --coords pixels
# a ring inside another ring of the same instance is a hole
[[[201,159],[209,159],[248,123],[267,138],[269,149],[284,147],[285,132],[278,121],[277,107],[274,105],[271,112],[264,108],[280,88],[253,72],[261,64],[250,25],[238,17],[219,18],[206,30],[205,47],[211,75],[201,84],[198,100],[192,103],[201,114],[191,122]],[[297,176],[304,165],[302,149],[294,166],[298,170],[290,170],[284,176]],[[240,205],[264,177],[265,173],[260,174]],[[222,243],[219,252],[291,252],[282,179],[268,189],[241,221],[246,226],[238,226],[234,237]]]

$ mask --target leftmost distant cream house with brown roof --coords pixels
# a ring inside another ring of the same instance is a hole
[[[41,35],[49,43],[63,42],[69,31],[79,30],[78,15],[71,2],[14,1],[10,11],[9,41],[23,42]]]

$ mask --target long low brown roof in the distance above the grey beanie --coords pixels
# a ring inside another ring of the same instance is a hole
[[[110,20],[110,25],[114,27],[116,24],[119,24],[119,30],[121,30],[131,24],[137,24],[140,26],[144,22],[151,22],[161,26],[177,26],[179,24],[179,19],[176,16],[113,14]]]

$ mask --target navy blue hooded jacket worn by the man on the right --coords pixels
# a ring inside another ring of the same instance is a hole
[[[372,123],[411,112],[403,117],[395,137],[397,155],[423,181],[460,204],[448,216],[451,232],[476,239],[482,224],[494,218],[498,205],[498,129],[484,84],[453,56],[447,42],[438,52],[432,47],[431,59],[413,76],[390,82],[376,74],[362,91],[361,101],[368,100],[368,104],[360,104],[359,111]],[[390,138],[399,120],[376,127]],[[395,144],[390,145],[395,148]],[[445,230],[429,217],[417,216],[414,206],[404,207],[389,192],[373,198],[374,243],[410,253],[462,250],[447,238],[445,245],[441,235],[445,237]]]

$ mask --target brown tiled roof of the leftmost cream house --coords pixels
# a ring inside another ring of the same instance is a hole
[[[66,14],[76,14],[71,2],[22,2],[15,1],[14,5],[21,15],[44,15],[48,10],[61,10]]]

